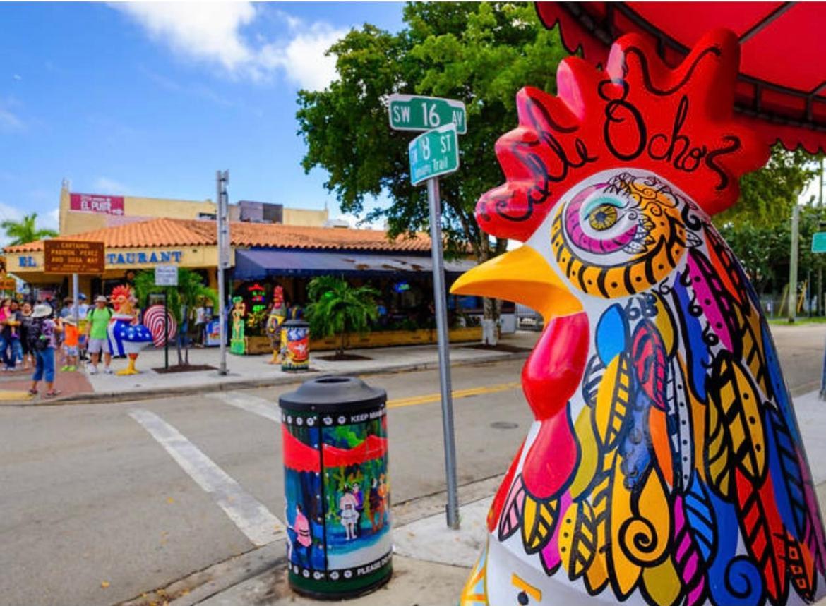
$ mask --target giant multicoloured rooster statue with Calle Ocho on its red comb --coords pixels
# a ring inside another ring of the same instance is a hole
[[[523,244],[453,292],[545,329],[522,373],[535,422],[496,494],[460,604],[810,604],[824,527],[760,302],[710,215],[768,150],[732,116],[737,39],[669,69],[636,36],[605,69],[524,88],[477,205]]]

